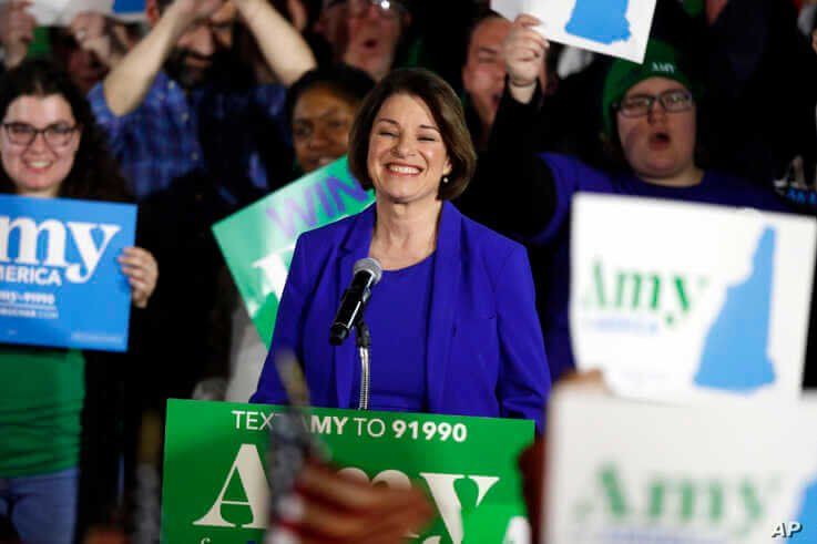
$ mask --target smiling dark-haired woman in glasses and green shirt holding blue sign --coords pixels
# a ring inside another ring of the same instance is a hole
[[[91,109],[64,72],[27,61],[6,73],[0,115],[0,192],[126,198]],[[144,308],[156,287],[155,259],[132,247],[119,261],[133,305]],[[84,374],[76,350],[0,347],[0,515],[23,542],[73,542]]]

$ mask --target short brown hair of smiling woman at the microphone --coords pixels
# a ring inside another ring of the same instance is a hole
[[[349,135],[349,170],[365,189],[372,187],[367,165],[369,135],[384,102],[395,94],[416,96],[431,111],[451,163],[449,182],[440,184],[437,197],[441,201],[457,198],[466,191],[473,176],[477,152],[457,93],[442,78],[428,70],[417,68],[395,70],[366,96]]]

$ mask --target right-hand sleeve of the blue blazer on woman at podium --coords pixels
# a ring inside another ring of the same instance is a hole
[[[497,327],[502,370],[499,399],[503,418],[530,419],[544,430],[550,370],[535,307],[533,276],[522,246],[505,258],[496,283]]]

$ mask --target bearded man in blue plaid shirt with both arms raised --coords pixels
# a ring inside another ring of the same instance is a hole
[[[266,0],[147,0],[151,32],[90,95],[98,121],[142,201],[194,172],[235,208],[267,188],[258,117],[283,131],[286,90],[315,65],[300,34]],[[256,86],[233,58],[241,16],[283,85]]]

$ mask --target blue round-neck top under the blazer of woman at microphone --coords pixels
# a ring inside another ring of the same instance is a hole
[[[400,270],[384,270],[371,290],[366,325],[371,332],[369,409],[427,411],[426,339],[435,254]],[[407,297],[407,292],[416,294]],[[359,361],[359,359],[358,359]],[[360,397],[355,365],[353,406]]]

